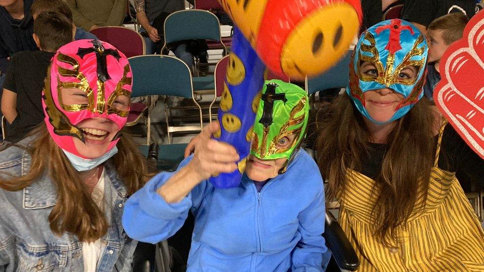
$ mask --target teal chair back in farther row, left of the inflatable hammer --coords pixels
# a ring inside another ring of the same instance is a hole
[[[201,9],[180,10],[165,20],[165,45],[183,40],[221,42],[220,21],[215,14]]]

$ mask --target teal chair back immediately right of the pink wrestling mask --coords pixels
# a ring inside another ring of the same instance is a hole
[[[190,69],[179,58],[168,55],[142,55],[130,57],[128,61],[133,74],[131,97],[193,97]]]

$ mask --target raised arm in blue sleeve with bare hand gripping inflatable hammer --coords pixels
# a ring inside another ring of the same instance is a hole
[[[172,236],[182,227],[188,210],[196,209],[203,200],[206,179],[237,168],[235,148],[210,139],[218,129],[218,122],[208,125],[193,157],[185,159],[175,173],[155,176],[129,198],[122,224],[131,238],[156,243]]]

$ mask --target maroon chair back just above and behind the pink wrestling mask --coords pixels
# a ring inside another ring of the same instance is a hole
[[[136,31],[123,26],[103,26],[91,31],[99,40],[112,44],[126,57],[145,54],[144,39]]]

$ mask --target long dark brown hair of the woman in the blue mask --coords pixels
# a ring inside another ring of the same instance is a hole
[[[434,116],[429,102],[422,99],[395,122],[386,138],[388,151],[375,179],[372,207],[374,234],[385,245],[398,242],[397,227],[407,222],[418,194],[426,195],[435,150]],[[347,169],[361,169],[368,156],[370,135],[363,118],[347,94],[318,114],[317,161],[329,182],[327,200],[345,192]]]

